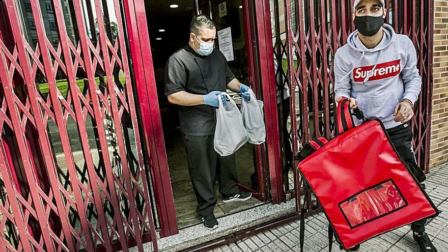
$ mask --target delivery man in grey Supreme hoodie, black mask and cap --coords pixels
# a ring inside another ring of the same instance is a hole
[[[416,164],[409,120],[422,77],[412,41],[384,24],[386,15],[384,0],[354,1],[357,30],[334,55],[335,98],[339,102],[347,97],[367,119],[380,119],[401,156]],[[426,219],[412,223],[413,238],[420,251],[436,252],[425,223]],[[349,251],[358,249],[359,245]]]

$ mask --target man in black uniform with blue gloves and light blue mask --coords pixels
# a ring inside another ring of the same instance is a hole
[[[224,203],[251,197],[238,189],[235,156],[221,157],[213,147],[218,99],[226,103],[226,98],[219,94],[230,89],[246,100],[250,98],[246,93],[249,87],[235,78],[222,52],[213,49],[215,37],[215,25],[209,17],[194,17],[188,45],[175,52],[165,67],[165,95],[171,103],[179,105],[180,129],[198,200],[197,212],[209,230],[218,227],[213,215],[216,177]]]

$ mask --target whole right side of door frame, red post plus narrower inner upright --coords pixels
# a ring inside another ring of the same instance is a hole
[[[278,125],[277,94],[269,1],[242,0],[249,80],[255,93],[263,94],[266,143],[256,147],[260,192],[273,204],[285,201]],[[268,15],[266,15],[268,13]],[[258,48],[257,48],[258,46]],[[268,187],[270,185],[270,188]],[[270,189],[270,190],[269,190]]]

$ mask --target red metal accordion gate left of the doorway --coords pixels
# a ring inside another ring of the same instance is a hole
[[[0,1],[0,251],[156,244],[128,2]]]

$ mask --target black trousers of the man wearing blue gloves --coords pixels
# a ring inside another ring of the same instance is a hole
[[[197,212],[204,217],[213,214],[216,205],[216,179],[223,197],[239,193],[235,155],[221,157],[213,148],[213,138],[214,135],[184,135],[188,172],[198,201]]]

